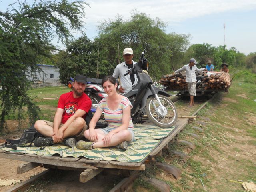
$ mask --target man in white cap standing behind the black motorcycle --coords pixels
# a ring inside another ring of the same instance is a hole
[[[114,70],[113,77],[118,78],[120,77],[120,86],[118,86],[118,91],[120,93],[124,93],[127,89],[131,88],[134,82],[138,81],[137,76],[135,74],[126,74],[127,70],[132,68],[133,65],[136,63],[132,60],[133,58],[133,50],[130,47],[124,49],[123,52],[124,62],[118,64]]]

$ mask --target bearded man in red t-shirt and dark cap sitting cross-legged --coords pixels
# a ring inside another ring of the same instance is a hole
[[[74,147],[76,140],[82,139],[87,129],[84,117],[92,106],[92,101],[84,93],[86,84],[86,76],[76,75],[73,91],[60,96],[54,122],[36,121],[34,127],[45,137],[36,138],[35,146],[51,146],[63,142],[67,146]]]

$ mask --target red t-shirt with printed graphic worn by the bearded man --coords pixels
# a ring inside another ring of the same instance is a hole
[[[60,96],[57,108],[64,109],[61,122],[64,124],[68,118],[75,114],[76,110],[82,109],[86,113],[91,109],[92,101],[83,93],[81,97],[74,98],[73,92],[64,93]],[[86,114],[83,116],[83,118]]]

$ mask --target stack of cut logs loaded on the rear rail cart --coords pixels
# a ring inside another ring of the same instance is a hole
[[[196,73],[196,88],[228,89],[230,87],[230,74],[225,72],[199,72]],[[170,90],[187,89],[186,73],[179,72],[162,76],[159,80]]]

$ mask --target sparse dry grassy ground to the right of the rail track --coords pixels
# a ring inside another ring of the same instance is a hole
[[[256,126],[252,125],[255,123],[252,117],[256,116],[255,93],[254,83],[233,81],[228,94],[218,93],[214,100],[200,110],[199,119],[186,126],[185,132],[196,133],[200,139],[178,134],[179,140],[194,142],[195,150],[190,151],[175,142],[169,144],[168,150],[164,150],[159,160],[164,162],[165,159],[165,162],[182,170],[178,180],[166,180],[173,191],[204,191],[202,180],[207,191],[242,192],[244,190],[240,184],[229,180],[256,180],[255,159],[246,156],[244,151],[246,147],[246,152],[251,154],[256,146]],[[179,107],[184,107],[182,101],[177,102]],[[193,129],[193,126],[201,127],[203,132]],[[184,163],[171,153],[172,150],[189,153],[190,158]]]

